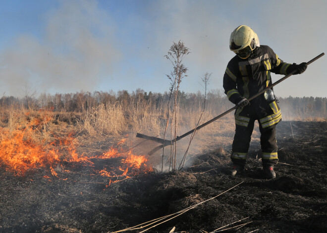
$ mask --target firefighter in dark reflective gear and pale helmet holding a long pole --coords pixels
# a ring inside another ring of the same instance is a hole
[[[257,34],[248,26],[237,27],[230,35],[229,48],[236,55],[228,62],[223,88],[235,110],[235,135],[232,143],[232,176],[244,170],[255,120],[261,133],[263,171],[267,179],[276,177],[273,168],[278,162],[275,126],[281,112],[273,90],[253,100],[248,98],[272,84],[271,72],[287,75],[303,73],[307,65],[283,62],[272,48],[260,45]]]

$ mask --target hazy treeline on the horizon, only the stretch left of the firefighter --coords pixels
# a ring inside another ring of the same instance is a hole
[[[118,91],[114,93],[109,92],[77,92],[77,93],[56,93],[52,94],[40,94],[38,97],[25,96],[17,98],[13,96],[2,96],[0,99],[1,107],[19,106],[26,109],[33,110],[53,110],[64,112],[83,112],[87,109],[97,107],[99,105],[115,104],[119,103],[123,106],[130,104],[148,103],[156,107],[160,107],[167,103],[170,98],[170,94],[165,93],[152,93],[145,92],[142,89],[137,89],[135,92],[129,93],[126,90]],[[203,93],[185,93],[178,92],[178,103],[180,107],[192,107],[194,105],[201,105],[204,101]],[[213,90],[207,93],[207,102],[211,102],[211,105],[220,106],[230,105],[225,94],[220,90]],[[214,106],[213,106],[214,107]]]

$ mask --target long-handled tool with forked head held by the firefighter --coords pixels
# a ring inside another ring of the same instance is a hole
[[[315,58],[313,58],[312,60],[308,61],[306,64],[307,65],[310,65],[312,62],[316,61],[317,59],[319,59],[320,57],[324,56],[325,53],[321,53],[320,55],[316,56]],[[284,81],[285,79],[287,79],[288,77],[290,77],[291,75],[293,75],[294,73],[296,72],[296,70],[292,71],[291,73],[289,73],[288,75],[286,75],[285,77],[279,79],[278,81],[276,81],[275,83],[273,83],[271,86],[265,88],[264,90],[262,90],[261,92],[259,93],[256,93],[255,95],[251,96],[250,98],[248,98],[248,100],[252,100],[256,97],[258,97],[259,95],[261,95],[262,93],[265,93],[267,90],[271,89],[272,87],[276,86],[277,84],[279,84],[280,82]],[[218,115],[217,117],[211,119],[210,121],[207,121],[206,123],[198,126],[197,128],[194,128],[193,130],[190,130],[189,132],[181,135],[181,136],[177,136],[176,139],[173,139],[173,140],[163,140],[161,138],[157,138],[157,137],[152,137],[152,136],[147,136],[147,135],[143,135],[143,134],[139,134],[137,133],[136,134],[136,137],[137,138],[142,138],[142,139],[146,139],[146,140],[152,140],[152,141],[156,141],[156,142],[159,142],[161,143],[161,145],[159,146],[156,146],[155,148],[153,148],[148,154],[149,155],[152,155],[154,154],[156,151],[158,151],[159,149],[163,148],[164,146],[166,145],[172,145],[173,143],[175,143],[176,141],[178,140],[181,140],[182,138],[185,138],[186,136],[192,134],[194,131],[196,130],[200,130],[201,128],[209,125],[210,123],[218,120],[219,118],[223,117],[224,115],[230,113],[231,111],[233,111],[234,109],[236,109],[238,106],[235,105],[234,107],[228,109],[227,111],[221,113],[220,115]]]

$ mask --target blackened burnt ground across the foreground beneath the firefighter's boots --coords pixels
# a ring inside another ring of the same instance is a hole
[[[226,174],[230,148],[219,146],[182,172],[153,172],[110,186],[88,167],[71,167],[70,173],[58,174],[61,179],[45,169],[19,177],[0,167],[0,232],[114,232],[176,213],[240,183],[147,232],[169,233],[176,227],[175,232],[209,233],[244,218],[222,229],[326,232],[327,122],[281,122],[277,142],[274,180],[263,179],[258,140],[251,143],[246,171],[235,177]]]

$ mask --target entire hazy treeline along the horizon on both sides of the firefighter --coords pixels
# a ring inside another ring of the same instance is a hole
[[[56,93],[40,94],[38,97],[25,96],[17,98],[13,96],[2,96],[1,107],[17,106],[33,110],[52,110],[57,112],[84,112],[99,105],[109,106],[119,103],[123,107],[137,104],[148,104],[153,107],[166,106],[169,100],[169,93],[152,93],[137,89],[129,93],[126,90],[109,92],[77,92],[77,93]],[[279,105],[282,114],[286,118],[327,118],[327,98],[326,97],[279,97]],[[204,93],[178,92],[178,103],[182,108],[198,109],[204,104]],[[221,113],[233,105],[228,101],[222,90],[211,90],[206,95],[206,108]]]

